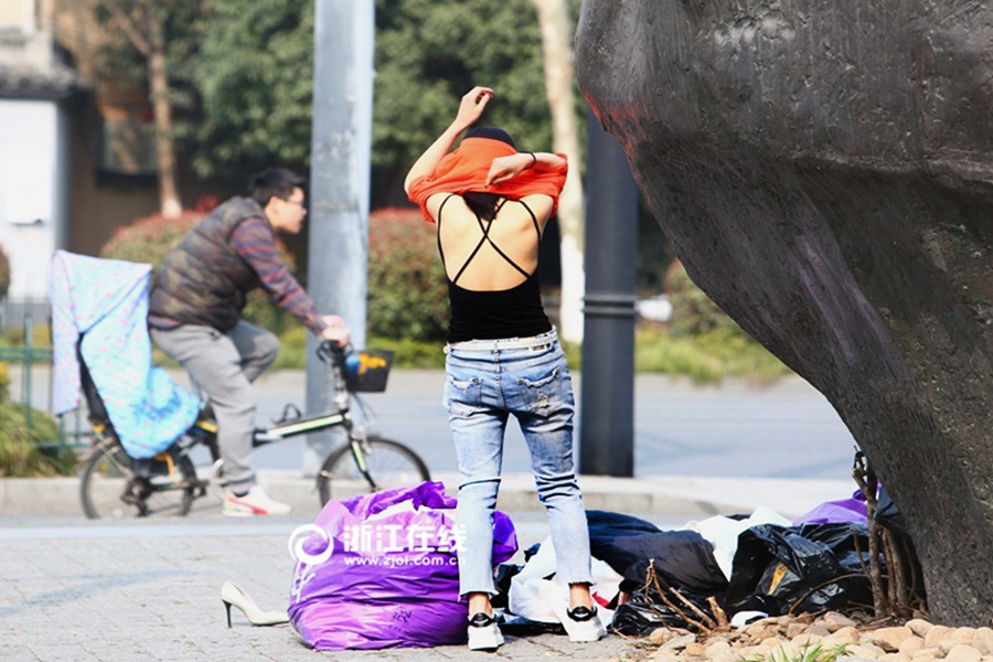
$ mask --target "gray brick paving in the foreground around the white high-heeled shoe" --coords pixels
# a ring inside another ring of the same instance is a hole
[[[288,604],[291,531],[309,517],[222,516],[108,526],[38,526],[0,519],[0,660],[131,662],[319,659],[289,624],[252,627],[220,600],[231,579],[264,609]],[[61,522],[60,524],[65,524]],[[634,640],[573,644],[564,636],[508,637],[508,660],[637,660]],[[329,660],[465,660],[465,647],[327,652]],[[482,654],[479,655],[482,658]]]

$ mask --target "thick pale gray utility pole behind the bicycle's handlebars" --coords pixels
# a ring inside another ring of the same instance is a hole
[[[316,0],[313,136],[308,291],[323,313],[340,314],[365,345],[369,189],[372,153],[374,0]],[[314,339],[308,342],[313,356]],[[323,364],[307,362],[307,410],[330,407]],[[313,476],[334,444],[311,435],[303,472]]]

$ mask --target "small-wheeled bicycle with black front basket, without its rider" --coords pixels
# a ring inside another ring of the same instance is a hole
[[[348,442],[331,450],[317,474],[321,505],[331,499],[364,491],[430,480],[424,460],[409,447],[365,433],[373,413],[357,393],[385,389],[392,354],[350,353],[348,348],[323,341],[318,345],[317,355],[332,373],[334,408],[305,417],[293,405],[287,405],[280,420],[255,430],[253,447],[343,427]],[[83,511],[87,517],[185,515],[195,499],[223,492],[217,425],[209,407],[169,449],[151,459],[136,460],[120,445],[85,364],[82,365],[82,377],[90,428],[96,438],[93,451],[83,466],[79,487]],[[363,413],[362,426],[352,418],[353,398]],[[190,457],[200,446],[209,449],[213,460],[205,478],[199,477]]]

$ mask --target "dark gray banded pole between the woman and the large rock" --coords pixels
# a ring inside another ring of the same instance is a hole
[[[630,477],[634,476],[638,188],[623,150],[592,111],[587,113],[586,126],[579,472]]]

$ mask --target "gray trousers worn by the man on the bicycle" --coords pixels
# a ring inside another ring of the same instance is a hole
[[[224,477],[233,489],[247,488],[255,481],[252,382],[276,360],[279,339],[247,322],[238,322],[227,333],[199,324],[149,331],[152,342],[185,369],[201,397],[210,399],[217,419]]]

